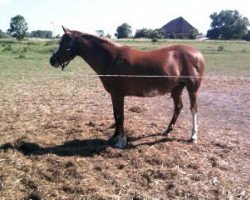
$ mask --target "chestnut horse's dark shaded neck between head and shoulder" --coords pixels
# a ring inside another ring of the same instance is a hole
[[[102,41],[81,40],[79,42],[79,56],[97,73],[102,74],[107,64],[114,59],[116,47]]]

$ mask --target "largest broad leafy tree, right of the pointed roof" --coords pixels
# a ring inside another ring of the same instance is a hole
[[[219,14],[210,15],[211,29],[207,32],[209,39],[242,39],[247,33],[249,21],[242,17],[237,10],[222,10]]]

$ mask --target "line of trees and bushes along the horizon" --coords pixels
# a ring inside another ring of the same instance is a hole
[[[249,20],[243,17],[237,10],[222,10],[220,13],[214,12],[210,15],[212,20],[210,29],[207,31],[207,38],[214,40],[232,40],[243,39],[250,41]],[[12,36],[17,40],[22,40],[24,37],[36,37],[36,38],[52,38],[52,31],[36,30],[31,33],[27,32],[28,24],[24,17],[17,15],[11,18],[10,28],[7,33],[1,31],[0,38]],[[103,30],[97,30],[96,33],[101,37],[111,37],[110,34],[105,34]],[[188,38],[195,39],[199,34],[197,29],[190,31]],[[138,29],[134,36],[132,36],[132,27],[123,23],[116,29],[115,36],[120,38],[151,38],[151,39],[163,39],[166,38],[162,29]],[[175,38],[168,36],[168,38]]]

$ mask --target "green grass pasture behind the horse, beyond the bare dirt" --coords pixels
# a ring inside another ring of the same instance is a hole
[[[119,40],[120,44],[150,50],[172,44],[186,44],[199,49],[205,56],[206,75],[250,76],[250,43],[244,41],[191,40]],[[0,40],[0,85],[20,81],[49,84],[51,79],[70,79],[93,74],[89,66],[77,58],[61,72],[49,65],[58,41]]]

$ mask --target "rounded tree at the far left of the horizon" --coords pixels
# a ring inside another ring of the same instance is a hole
[[[15,37],[17,40],[21,41],[27,34],[28,24],[25,21],[24,17],[17,15],[11,18],[10,29],[8,33]]]

